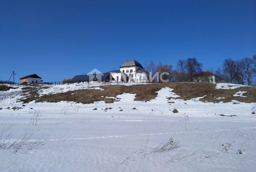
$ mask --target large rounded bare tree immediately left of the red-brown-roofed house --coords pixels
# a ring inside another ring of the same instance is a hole
[[[193,81],[193,76],[202,71],[203,64],[198,62],[196,58],[187,58],[185,68],[188,72],[190,81]]]

